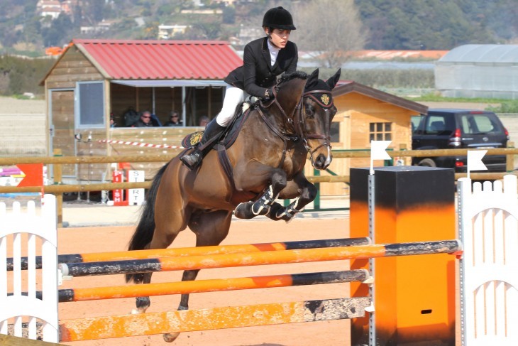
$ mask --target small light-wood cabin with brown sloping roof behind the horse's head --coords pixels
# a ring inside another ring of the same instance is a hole
[[[361,85],[357,82],[339,82],[333,90],[334,104],[338,109],[331,126],[333,149],[370,149],[370,141],[392,141],[389,148],[412,148],[410,118],[426,114],[428,107],[397,97],[387,92]],[[411,158],[401,158],[404,165]],[[374,161],[383,166],[383,161]],[[329,170],[336,175],[349,175],[350,168],[369,167],[370,158],[335,158]],[[306,175],[314,175],[307,165]],[[309,168],[309,169],[308,169]],[[321,172],[321,175],[329,173]],[[348,195],[348,185],[321,184],[321,195]]]

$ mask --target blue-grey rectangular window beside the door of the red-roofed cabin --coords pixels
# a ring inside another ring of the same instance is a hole
[[[79,82],[77,90],[77,119],[79,127],[102,127],[104,124],[103,82]]]

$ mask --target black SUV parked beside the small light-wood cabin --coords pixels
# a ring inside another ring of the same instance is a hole
[[[412,117],[412,149],[506,148],[509,132],[492,112],[471,109],[429,109]],[[487,171],[505,172],[505,155],[484,156]],[[412,158],[412,165],[467,171],[466,156]]]

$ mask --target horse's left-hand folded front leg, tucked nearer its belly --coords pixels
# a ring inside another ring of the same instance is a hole
[[[270,212],[270,206],[275,203],[280,192],[286,187],[287,177],[285,171],[271,167],[268,167],[265,170],[268,172],[266,179],[266,183],[269,183],[268,187],[258,200],[240,203],[234,212],[236,217],[240,219],[251,219],[258,215],[267,215],[268,212]],[[246,178],[242,178],[240,180],[240,185],[243,186],[243,190],[252,190],[251,185],[258,185],[258,182],[261,182],[258,178],[264,178],[265,173],[263,173],[263,169],[259,172],[262,174],[255,176],[250,174],[247,175]],[[261,183],[264,184],[264,180]],[[250,188],[244,188],[247,185],[250,185]]]

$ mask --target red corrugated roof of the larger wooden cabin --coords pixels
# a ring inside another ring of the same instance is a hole
[[[108,79],[222,80],[243,60],[225,41],[72,40]]]

